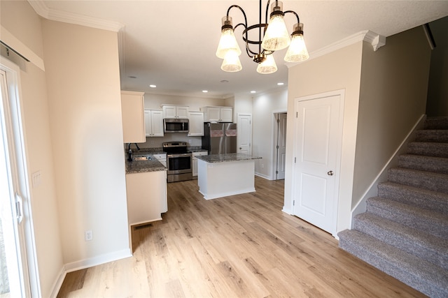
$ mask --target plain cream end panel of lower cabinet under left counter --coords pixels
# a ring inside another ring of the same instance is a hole
[[[167,212],[167,172],[126,174],[126,195],[130,225],[162,220]]]

